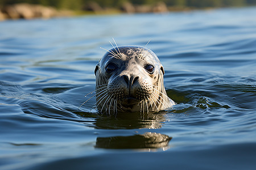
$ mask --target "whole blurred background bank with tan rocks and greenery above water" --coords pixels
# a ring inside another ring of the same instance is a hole
[[[256,5],[256,0],[1,0],[0,20],[84,14],[187,11]]]

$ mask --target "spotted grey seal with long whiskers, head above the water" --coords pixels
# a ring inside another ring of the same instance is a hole
[[[158,57],[142,46],[117,46],[100,59],[96,75],[101,113],[158,112],[175,105],[166,93]]]

